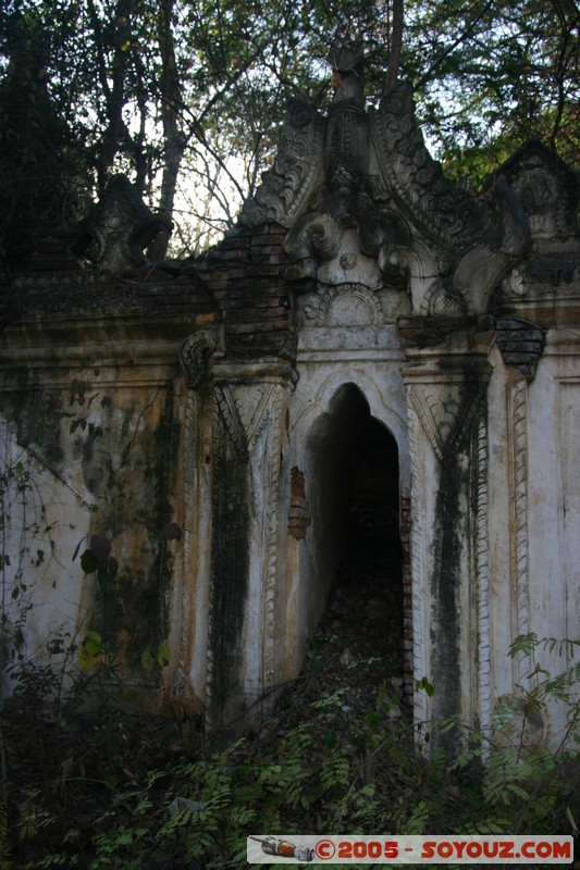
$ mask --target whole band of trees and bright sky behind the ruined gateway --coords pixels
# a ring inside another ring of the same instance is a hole
[[[393,7],[7,0],[4,259],[22,265],[35,226],[74,225],[115,171],[173,213],[177,252],[200,250],[256,188],[288,99],[329,103],[329,57],[345,41],[363,46],[367,96],[379,102]],[[407,0],[400,77],[414,83],[429,142],[457,181],[477,186],[532,135],[577,159],[578,47],[571,2]]]

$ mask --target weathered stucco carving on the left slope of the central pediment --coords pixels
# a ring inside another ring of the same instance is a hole
[[[259,226],[275,222],[289,227],[322,183],[323,141],[320,115],[304,102],[291,103],[274,165],[262,175],[255,197],[245,202],[239,223]]]

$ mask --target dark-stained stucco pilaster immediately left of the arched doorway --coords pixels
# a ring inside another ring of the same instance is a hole
[[[266,373],[251,380],[231,375],[214,386],[211,731],[239,730],[245,720],[263,717],[273,701],[284,389],[279,377]]]

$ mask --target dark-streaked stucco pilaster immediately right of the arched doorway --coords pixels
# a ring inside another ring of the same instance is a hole
[[[462,353],[408,349],[416,721],[430,713],[485,729],[491,716],[488,567],[488,338]],[[458,738],[441,737],[449,755]]]

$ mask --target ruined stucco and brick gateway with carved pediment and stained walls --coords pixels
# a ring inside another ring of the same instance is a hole
[[[359,62],[338,58],[328,116],[292,107],[203,257],[146,263],[160,223],[118,177],[4,288],[5,456],[42,517],[5,554],[27,576],[9,623],[24,596],[21,646],[101,625],[125,698],[202,707],[212,730],[259,719],[299,672],[371,442],[418,720],[488,728],[523,679],[516,635],[578,637],[579,176],[530,142],[469,196],[409,88],[366,111]],[[89,534],[112,543],[107,606],[73,560]],[[159,692],[143,652],[162,643]]]

